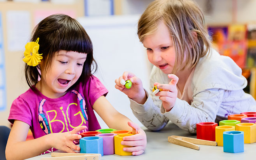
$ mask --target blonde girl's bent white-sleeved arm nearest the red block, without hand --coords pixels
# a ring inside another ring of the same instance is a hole
[[[197,123],[215,121],[224,92],[224,89],[219,88],[201,91],[193,97],[191,105],[177,98],[171,111],[163,115],[183,130],[196,133]]]

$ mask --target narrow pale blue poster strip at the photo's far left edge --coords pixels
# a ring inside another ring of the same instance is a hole
[[[4,67],[4,45],[2,14],[0,13],[0,111],[6,109],[6,85],[5,85],[5,67]]]

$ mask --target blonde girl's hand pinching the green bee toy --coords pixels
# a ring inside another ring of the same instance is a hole
[[[130,80],[132,82],[131,88],[127,89],[123,84],[121,84],[121,80]],[[120,76],[115,80],[116,85],[115,88],[125,93],[130,99],[136,101],[137,103],[144,104],[147,97],[146,92],[144,91],[142,81],[140,78],[136,77],[131,72],[124,72],[123,76]]]

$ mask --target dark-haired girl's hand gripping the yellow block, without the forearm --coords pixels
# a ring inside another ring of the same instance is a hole
[[[128,122],[128,125],[133,128],[132,132],[135,135],[123,137],[121,144],[133,147],[125,147],[123,150],[126,152],[132,152],[133,156],[143,154],[147,145],[146,133],[142,130],[142,128],[133,122]]]

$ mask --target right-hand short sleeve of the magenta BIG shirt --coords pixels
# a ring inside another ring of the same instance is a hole
[[[88,98],[91,106],[93,106],[93,104],[99,97],[101,97],[102,95],[106,97],[106,95],[108,94],[107,88],[95,76],[90,77],[86,88],[88,90]]]

